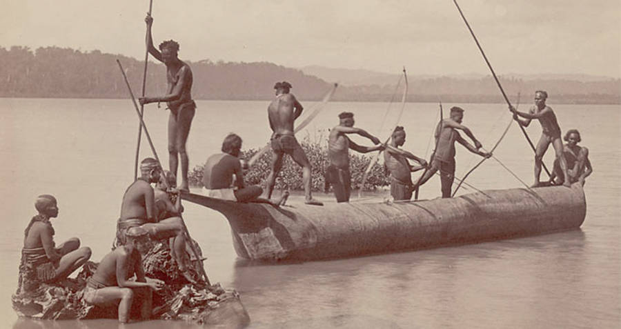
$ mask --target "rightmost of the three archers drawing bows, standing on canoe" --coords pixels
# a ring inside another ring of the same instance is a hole
[[[491,153],[479,150],[482,148],[481,143],[477,141],[468,127],[462,125],[463,119],[464,110],[457,106],[453,106],[453,108],[451,108],[451,117],[449,119],[443,119],[437,124],[437,128],[435,128],[435,153],[431,159],[431,168],[429,168],[429,170],[425,172],[425,175],[415,184],[414,190],[428,181],[437,170],[440,170],[442,197],[451,197],[451,188],[453,186],[453,180],[455,179],[455,141],[462,144],[464,148],[470,152],[479,154],[481,157],[491,157]],[[463,139],[457,130],[462,130],[468,135],[475,143],[475,146],[472,146]]]

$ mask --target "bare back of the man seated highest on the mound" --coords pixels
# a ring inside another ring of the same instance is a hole
[[[148,219],[153,216],[155,193],[149,183],[137,179],[126,190],[121,203],[121,220],[130,218]],[[150,207],[148,211],[148,208]],[[148,216],[151,215],[151,216]]]

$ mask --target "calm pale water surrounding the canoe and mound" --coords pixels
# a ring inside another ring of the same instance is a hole
[[[218,152],[228,132],[241,135],[244,148],[267,141],[266,102],[197,103],[188,141],[190,167]],[[311,103],[306,105],[310,110]],[[450,106],[444,104],[445,117]],[[591,151],[595,173],[585,187],[588,206],[581,230],[355,259],[257,265],[237,259],[228,223],[219,213],[186,203],[184,217],[209,257],[211,281],[240,292],[251,328],[619,328],[621,109],[551,106],[563,130],[578,128],[582,144]],[[394,125],[389,116],[380,129],[387,107],[387,103],[330,103],[298,136],[324,140],[326,128],[337,124],[337,114],[349,110],[355,112],[357,126],[384,139]],[[395,103],[391,111],[398,108]],[[491,148],[509,122],[506,107],[466,104],[464,108],[464,124],[485,148]],[[146,110],[149,132],[164,163],[167,115],[155,106]],[[0,198],[6,215],[0,233],[0,327],[117,328],[115,320],[18,320],[10,295],[17,285],[23,229],[34,215],[37,195],[51,193],[59,199],[60,215],[54,219],[57,242],[78,236],[92,248],[95,261],[108,252],[122,194],[132,181],[135,110],[126,100],[0,99],[0,117]],[[436,104],[408,103],[400,121],[408,133],[405,148],[419,155],[431,152],[428,141],[437,117]],[[538,123],[529,133],[536,141]],[[143,143],[142,150],[142,157],[148,156],[148,144]],[[516,126],[495,156],[531,183],[531,151]],[[457,176],[477,160],[458,148]],[[477,188],[522,185],[493,160],[468,182]],[[422,189],[422,197],[438,195],[440,183],[435,177]],[[126,328],[193,326],[149,321]]]

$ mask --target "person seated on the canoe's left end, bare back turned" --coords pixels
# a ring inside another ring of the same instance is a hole
[[[228,134],[222,142],[222,153],[210,156],[203,170],[203,192],[207,197],[239,202],[270,203],[281,206],[289,193],[286,191],[279,201],[263,199],[260,186],[245,186],[244,172],[239,154],[242,150],[242,138],[237,134]]]

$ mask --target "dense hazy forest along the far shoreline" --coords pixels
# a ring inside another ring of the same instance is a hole
[[[0,47],[0,97],[125,98],[126,86],[116,63],[119,59],[134,92],[140,90],[143,62],[99,50],[82,52],[70,48]],[[274,63],[233,63],[208,59],[189,62],[194,74],[195,99],[270,99],[275,81],[289,81],[299,99],[318,100],[333,81],[304,74],[302,70]],[[512,99],[521,92],[529,95],[544,89],[551,103],[621,103],[621,80],[573,81],[567,79],[503,79],[501,83]],[[166,88],[165,69],[150,63],[147,94],[161,94]],[[395,81],[396,83],[397,81]],[[408,101],[502,103],[502,95],[491,76],[480,79],[434,77],[411,79]],[[336,101],[388,101],[395,86],[342,86]],[[399,97],[395,97],[399,99]],[[522,98],[524,99],[524,97]]]

